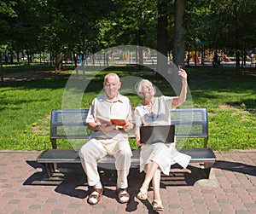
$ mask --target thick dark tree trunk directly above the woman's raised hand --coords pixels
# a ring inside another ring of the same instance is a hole
[[[173,38],[173,62],[184,67],[185,56],[185,29],[183,27],[183,14],[185,11],[185,0],[175,0],[175,20]]]

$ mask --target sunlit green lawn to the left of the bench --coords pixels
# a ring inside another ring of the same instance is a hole
[[[44,78],[0,88],[0,148],[42,150],[49,147],[49,114],[61,108],[67,78]]]

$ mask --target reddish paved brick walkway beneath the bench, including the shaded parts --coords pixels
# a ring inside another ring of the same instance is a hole
[[[121,205],[114,193],[114,171],[101,171],[104,195],[98,205],[86,203],[88,186],[80,165],[61,165],[66,173],[62,182],[43,182],[42,165],[35,162],[37,152],[0,151],[0,213],[156,213],[148,200],[135,197],[143,174],[131,170],[131,201]],[[195,166],[188,170],[173,169],[163,176],[162,213],[218,214],[256,213],[256,150],[216,153],[218,161],[210,179]],[[72,173],[70,173],[72,172]],[[108,184],[107,184],[108,183]]]

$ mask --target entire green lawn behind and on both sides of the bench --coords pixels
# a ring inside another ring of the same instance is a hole
[[[20,67],[3,67],[4,72],[24,72]],[[9,69],[7,72],[6,69]],[[40,71],[44,68],[40,67]],[[38,71],[38,67],[31,70]],[[47,69],[45,69],[47,70]],[[234,68],[189,68],[189,90],[194,107],[207,107],[209,118],[208,146],[214,150],[256,148],[256,76],[242,75]],[[253,72],[253,69],[250,71]],[[119,69],[121,77],[141,75],[137,68]],[[90,81],[81,107],[89,107],[102,90],[100,72]],[[88,72],[90,77],[90,72]],[[93,74],[93,72],[91,72]],[[93,75],[92,75],[93,76]],[[52,109],[60,109],[68,79],[67,72],[50,78],[20,81],[0,87],[0,149],[44,150],[49,142],[49,118]],[[154,81],[168,95],[170,86],[153,75],[143,75]],[[84,81],[80,78],[79,81]],[[128,94],[133,106],[140,101]],[[201,147],[203,142],[188,140],[185,147]],[[58,141],[59,147],[70,147],[67,141]],[[131,141],[131,147],[137,147]]]

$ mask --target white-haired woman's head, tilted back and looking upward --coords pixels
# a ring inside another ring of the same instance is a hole
[[[144,100],[147,97],[150,98],[155,95],[154,85],[148,79],[143,79],[137,82],[135,89],[138,97],[142,100]]]

